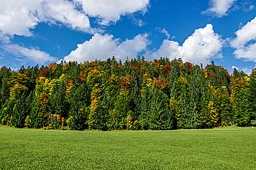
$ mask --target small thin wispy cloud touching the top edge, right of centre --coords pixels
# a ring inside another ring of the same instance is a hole
[[[228,10],[236,0],[210,0],[209,6],[203,14],[213,15],[214,17],[223,17],[227,15]]]

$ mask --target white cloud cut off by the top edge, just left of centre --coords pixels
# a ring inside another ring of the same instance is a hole
[[[141,11],[145,13],[149,0],[75,0],[83,5],[90,17],[98,17],[99,23],[108,25],[116,23],[121,16]]]

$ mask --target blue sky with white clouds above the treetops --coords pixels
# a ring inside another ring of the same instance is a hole
[[[0,67],[182,58],[256,68],[256,0],[0,0]]]

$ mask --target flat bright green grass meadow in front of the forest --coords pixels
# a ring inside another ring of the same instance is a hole
[[[61,131],[0,127],[0,170],[256,170],[256,128]]]

